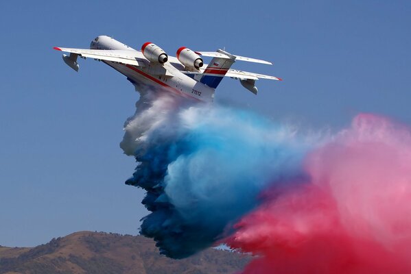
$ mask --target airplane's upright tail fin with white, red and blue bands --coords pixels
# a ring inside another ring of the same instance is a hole
[[[200,83],[209,86],[210,88],[217,88],[221,80],[226,75],[228,69],[235,62],[235,56],[218,49],[218,53],[223,53],[215,56],[207,68],[203,71]]]

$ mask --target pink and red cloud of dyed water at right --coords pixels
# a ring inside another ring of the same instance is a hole
[[[408,128],[361,114],[304,171],[306,184],[266,190],[226,239],[259,255],[244,273],[411,273]]]

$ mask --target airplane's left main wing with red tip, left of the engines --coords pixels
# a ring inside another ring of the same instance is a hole
[[[145,66],[147,59],[140,51],[128,50],[104,50],[104,49],[71,49],[67,47],[54,47],[58,51],[77,54],[83,58],[94,58],[97,60],[106,60],[119,62],[123,64],[131,64],[133,66]]]

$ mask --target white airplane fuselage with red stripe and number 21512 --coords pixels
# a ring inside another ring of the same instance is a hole
[[[91,42],[90,49],[120,49],[136,51],[124,45],[122,42],[108,36],[98,36]],[[138,90],[165,90],[173,92],[183,97],[193,98],[200,101],[211,102],[214,98],[214,88],[210,88],[195,79],[181,73],[169,62],[164,64],[152,64],[148,60],[145,66],[132,66],[130,64],[120,64],[117,62],[103,61],[113,67],[119,73],[126,75],[130,82]],[[158,69],[165,69],[170,75],[158,73]]]

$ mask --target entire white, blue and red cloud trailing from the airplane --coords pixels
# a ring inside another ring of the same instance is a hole
[[[125,125],[141,234],[185,258],[225,242],[244,273],[411,273],[411,132],[360,114],[323,138],[149,92]]]

